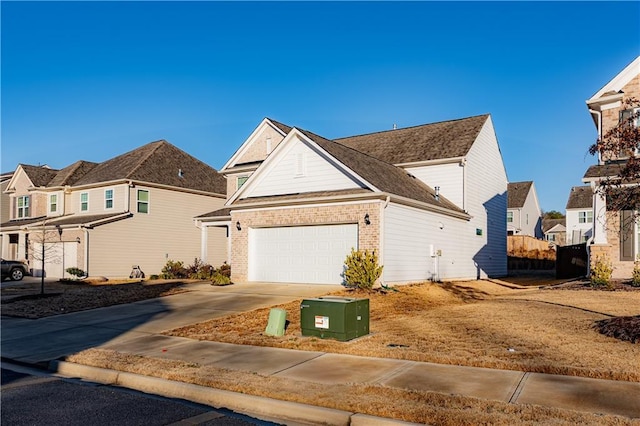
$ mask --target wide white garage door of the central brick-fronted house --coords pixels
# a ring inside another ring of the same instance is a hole
[[[341,284],[351,248],[357,224],[250,229],[249,280]]]

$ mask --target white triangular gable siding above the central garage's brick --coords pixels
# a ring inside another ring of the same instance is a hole
[[[244,197],[284,195],[316,191],[359,188],[352,178],[327,161],[306,143],[298,141],[288,147],[277,164],[269,164],[264,175],[249,188]]]

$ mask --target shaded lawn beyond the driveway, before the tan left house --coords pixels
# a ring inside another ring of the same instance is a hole
[[[23,282],[3,287],[2,315],[43,318],[188,291],[181,281]]]

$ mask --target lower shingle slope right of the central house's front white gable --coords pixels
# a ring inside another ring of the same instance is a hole
[[[305,130],[300,131],[380,191],[462,212],[462,209],[442,195],[436,199],[435,191],[432,188],[400,167],[363,154],[340,143],[330,141],[314,133]]]

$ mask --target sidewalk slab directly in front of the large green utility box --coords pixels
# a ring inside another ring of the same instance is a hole
[[[393,374],[408,363],[410,361],[324,354],[275,376],[326,384],[370,383]]]

